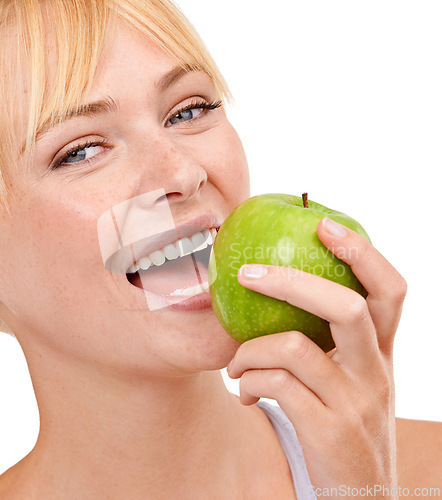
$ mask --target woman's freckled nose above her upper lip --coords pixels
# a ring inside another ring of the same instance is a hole
[[[150,148],[149,165],[143,170],[139,192],[164,189],[156,203],[182,203],[197,196],[207,182],[207,171],[195,156],[171,138],[158,139]],[[151,205],[152,206],[152,205]],[[147,207],[146,207],[147,208]]]

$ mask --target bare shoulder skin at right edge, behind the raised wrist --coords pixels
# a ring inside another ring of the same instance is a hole
[[[442,422],[396,418],[396,443],[399,486],[442,494]]]

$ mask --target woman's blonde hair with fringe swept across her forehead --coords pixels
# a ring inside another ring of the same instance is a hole
[[[218,97],[231,100],[229,88],[206,46],[172,0],[3,0],[0,208],[7,209],[13,191],[11,166],[22,166],[21,153],[32,151],[35,137],[45,125],[54,125],[81,104],[92,83],[106,35],[112,33],[118,20],[146,35],[187,71],[205,71]],[[56,57],[56,72],[50,79],[49,44]],[[28,113],[18,116],[18,104],[23,99]],[[25,130],[26,138],[20,138],[18,130]],[[6,329],[1,319],[0,329]]]

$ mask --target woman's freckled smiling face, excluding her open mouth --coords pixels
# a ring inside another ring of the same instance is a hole
[[[244,151],[223,110],[177,115],[217,100],[210,78],[192,71],[158,85],[176,66],[120,26],[84,97],[112,105],[46,130],[15,179],[18,196],[0,219],[0,314],[22,344],[152,374],[217,369],[238,347],[211,308],[148,307],[100,251],[97,221],[127,200],[145,199],[143,217],[148,193],[164,189],[178,225],[205,214],[222,223],[249,197]]]

